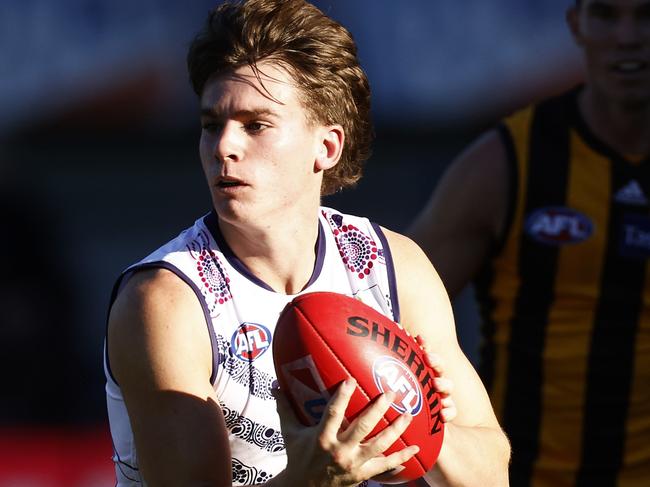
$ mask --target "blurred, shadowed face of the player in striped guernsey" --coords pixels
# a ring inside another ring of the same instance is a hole
[[[650,103],[650,0],[583,0],[569,12],[588,80],[611,101]]]

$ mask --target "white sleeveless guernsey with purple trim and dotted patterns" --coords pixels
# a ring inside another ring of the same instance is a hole
[[[301,294],[332,291],[355,296],[399,321],[392,258],[379,226],[325,207],[319,220],[316,265]],[[246,269],[221,236],[214,212],[127,268],[113,301],[134,271],[152,267],[177,274],[203,307],[212,339],[211,380],[229,430],[233,485],[269,480],[287,461],[270,393],[275,381],[271,342],[280,312],[295,296],[274,292]],[[128,413],[106,353],[104,357],[117,486],[142,486]]]

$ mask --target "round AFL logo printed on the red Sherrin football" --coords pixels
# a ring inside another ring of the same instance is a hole
[[[422,410],[420,386],[402,362],[393,357],[379,357],[372,365],[372,375],[380,391],[395,392],[391,406],[400,414],[408,411],[415,416]]]

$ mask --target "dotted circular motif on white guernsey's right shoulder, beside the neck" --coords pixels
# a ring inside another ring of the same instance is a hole
[[[377,244],[354,225],[344,224],[342,215],[333,214],[330,221],[335,225],[334,239],[343,263],[359,279],[365,278],[380,256]]]

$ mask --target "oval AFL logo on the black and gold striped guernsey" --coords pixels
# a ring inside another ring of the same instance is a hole
[[[594,231],[588,217],[562,206],[548,206],[534,211],[526,219],[524,228],[533,239],[549,245],[583,242]]]

